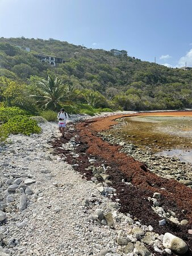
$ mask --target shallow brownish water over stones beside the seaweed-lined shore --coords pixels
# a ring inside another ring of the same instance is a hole
[[[127,141],[192,163],[191,117],[136,116],[119,119],[119,122],[125,124],[118,133]]]

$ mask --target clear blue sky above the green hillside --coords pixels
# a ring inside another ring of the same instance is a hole
[[[55,38],[192,67],[191,0],[0,0],[0,36]]]

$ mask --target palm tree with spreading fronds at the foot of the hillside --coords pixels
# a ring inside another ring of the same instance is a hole
[[[69,100],[74,93],[72,85],[64,86],[62,80],[55,75],[48,75],[48,79],[39,82],[41,95],[31,95],[37,99],[37,104],[44,109],[56,110],[61,101]]]

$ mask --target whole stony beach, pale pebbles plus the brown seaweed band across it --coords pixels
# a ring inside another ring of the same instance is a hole
[[[1,145],[0,255],[192,255],[191,164],[113,137],[126,114]]]

